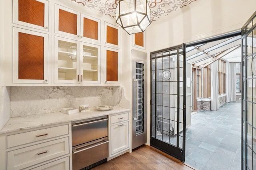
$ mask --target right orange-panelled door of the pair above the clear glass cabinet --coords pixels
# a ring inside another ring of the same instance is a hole
[[[100,43],[100,20],[81,14],[81,38]]]

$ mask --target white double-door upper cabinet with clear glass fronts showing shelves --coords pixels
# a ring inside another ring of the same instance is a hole
[[[100,83],[100,46],[55,37],[55,47],[55,84]]]

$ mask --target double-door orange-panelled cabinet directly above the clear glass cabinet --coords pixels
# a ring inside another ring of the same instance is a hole
[[[100,43],[100,20],[56,4],[55,33]]]

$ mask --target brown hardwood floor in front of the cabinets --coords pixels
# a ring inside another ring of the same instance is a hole
[[[194,170],[150,146],[142,146],[105,162],[92,170]]]

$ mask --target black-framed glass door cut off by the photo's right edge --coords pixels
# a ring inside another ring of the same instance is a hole
[[[242,169],[256,169],[256,12],[242,27]]]

